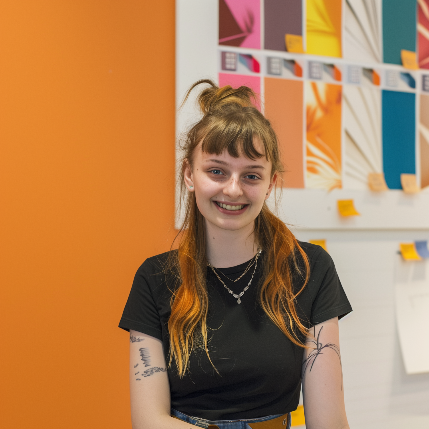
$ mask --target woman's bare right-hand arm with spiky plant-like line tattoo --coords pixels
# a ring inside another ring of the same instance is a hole
[[[309,329],[302,361],[307,429],[349,429],[344,408],[338,317]],[[314,336],[314,338],[313,338]]]

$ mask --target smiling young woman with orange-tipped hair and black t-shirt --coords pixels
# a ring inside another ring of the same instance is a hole
[[[142,264],[119,324],[133,428],[289,428],[301,384],[307,429],[348,428],[338,319],[351,307],[332,259],[266,204],[283,166],[253,91],[190,91],[202,83],[178,250]]]

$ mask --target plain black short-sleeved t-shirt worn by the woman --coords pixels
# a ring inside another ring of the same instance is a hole
[[[300,245],[311,266],[310,280],[296,299],[302,323],[310,327],[352,311],[329,254],[320,246]],[[174,288],[163,272],[167,256],[168,252],[151,257],[140,266],[119,323],[122,329],[159,338],[165,356],[169,353],[169,286]],[[207,268],[209,352],[220,375],[204,350],[191,354],[190,371],[184,378],[178,377],[177,369],[168,369],[172,408],[208,420],[230,420],[285,414],[298,406],[304,349],[293,344],[260,307],[263,257],[264,253],[241,304]],[[248,262],[221,271],[236,279]],[[252,267],[236,283],[221,278],[239,294],[253,271]],[[302,280],[296,278],[295,290],[301,286]]]

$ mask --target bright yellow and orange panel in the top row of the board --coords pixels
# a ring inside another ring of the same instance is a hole
[[[307,54],[341,57],[341,0],[307,0]]]

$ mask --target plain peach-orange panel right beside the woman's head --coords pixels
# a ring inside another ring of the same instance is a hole
[[[286,172],[284,187],[304,187],[303,83],[299,80],[265,78],[265,117],[277,134]]]

